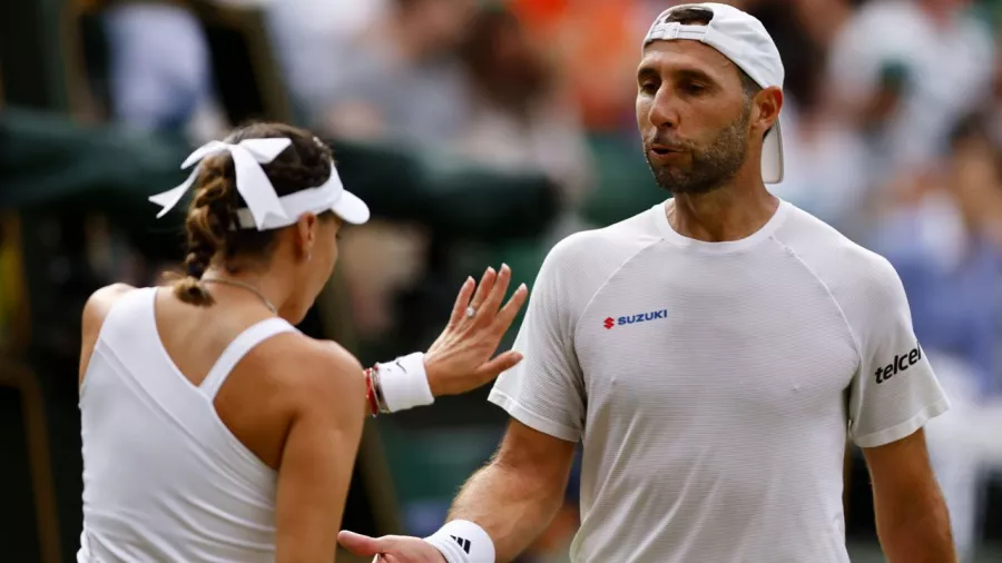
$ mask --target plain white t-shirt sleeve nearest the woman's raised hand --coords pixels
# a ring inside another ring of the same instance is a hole
[[[578,442],[584,427],[584,386],[572,342],[576,317],[561,292],[560,245],[543,261],[513,348],[523,356],[501,374],[488,401],[522,424]]]

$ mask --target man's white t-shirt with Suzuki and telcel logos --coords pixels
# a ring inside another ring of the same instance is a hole
[[[847,434],[949,407],[893,267],[788,203],[737,241],[664,205],[570,236],[514,348],[490,401],[583,442],[576,563],[847,562]]]

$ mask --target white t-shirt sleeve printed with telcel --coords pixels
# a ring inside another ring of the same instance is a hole
[[[861,365],[849,389],[849,433],[861,447],[906,437],[950,403],[912,329],[901,278],[884,259],[861,288],[866,315],[855,327]]]

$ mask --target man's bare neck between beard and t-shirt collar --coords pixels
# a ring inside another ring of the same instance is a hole
[[[668,204],[668,224],[684,237],[707,243],[740,240],[773,218],[779,199],[764,186],[726,186],[707,194],[678,194]]]

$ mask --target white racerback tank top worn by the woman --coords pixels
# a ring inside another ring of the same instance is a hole
[[[78,563],[275,560],[276,473],[223,424],[213,399],[279,318],[237,336],[195,386],[156,326],[156,288],[122,297],[80,389],[84,533]]]

